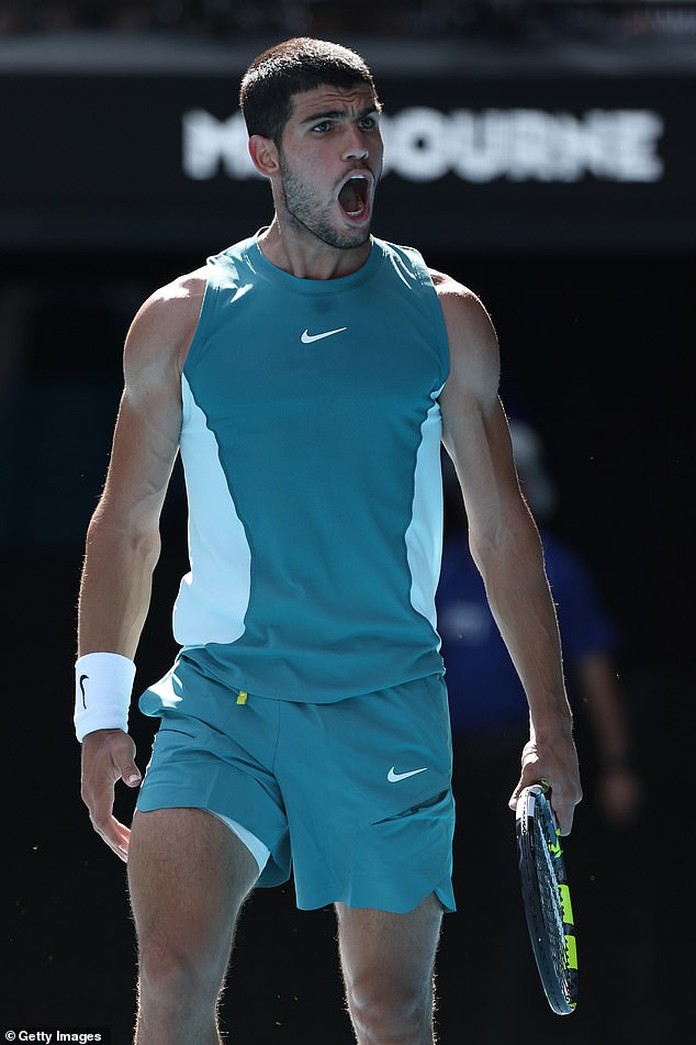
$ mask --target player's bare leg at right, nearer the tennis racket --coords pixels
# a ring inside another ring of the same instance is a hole
[[[336,904],[346,1000],[358,1045],[433,1045],[434,967],[442,909],[407,914]]]

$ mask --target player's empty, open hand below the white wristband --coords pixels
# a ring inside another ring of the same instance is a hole
[[[97,730],[82,741],[82,801],[94,831],[125,863],[130,830],[113,815],[114,787],[123,780],[130,788],[141,783],[135,765],[135,744],[121,730]]]

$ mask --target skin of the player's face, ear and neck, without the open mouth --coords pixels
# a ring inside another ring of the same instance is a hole
[[[271,182],[276,215],[259,243],[272,264],[300,278],[330,279],[366,262],[383,154],[368,87],[295,95],[279,145],[252,135],[249,153]],[[357,191],[339,200],[356,176]]]

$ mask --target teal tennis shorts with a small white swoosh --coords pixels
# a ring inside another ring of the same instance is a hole
[[[303,910],[454,910],[452,746],[440,675],[335,703],[229,690],[186,657],[141,698],[161,718],[137,808],[193,807],[270,853]],[[244,834],[242,835],[244,837]]]

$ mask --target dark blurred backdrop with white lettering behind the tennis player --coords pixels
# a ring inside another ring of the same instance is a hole
[[[682,1045],[696,5],[667,0],[0,3],[2,1027],[100,1026],[117,1045],[130,1040],[124,867],[90,830],[71,723],[85,531],[135,310],[270,220],[268,189],[245,162],[236,90],[256,54],[299,34],[353,46],[375,74],[390,168],[374,232],[418,246],[492,314],[503,398],[543,441],[555,530],[592,570],[619,636],[646,789],[637,822],[606,823],[580,713],[586,798],[566,858],[581,1004],[559,1019],[525,941],[512,814],[504,800],[486,804],[475,781],[462,787],[441,1042]],[[175,653],[182,497],[177,471],[138,654],[143,688]],[[150,724],[132,721],[144,766]],[[516,776],[513,764],[503,796]],[[119,794],[122,818],[132,801]],[[495,920],[481,901],[484,816],[509,834],[510,888]],[[493,966],[482,947],[492,932]],[[224,1008],[231,1041],[348,1045],[334,935],[330,911],[294,911],[291,883],[252,897]]]

